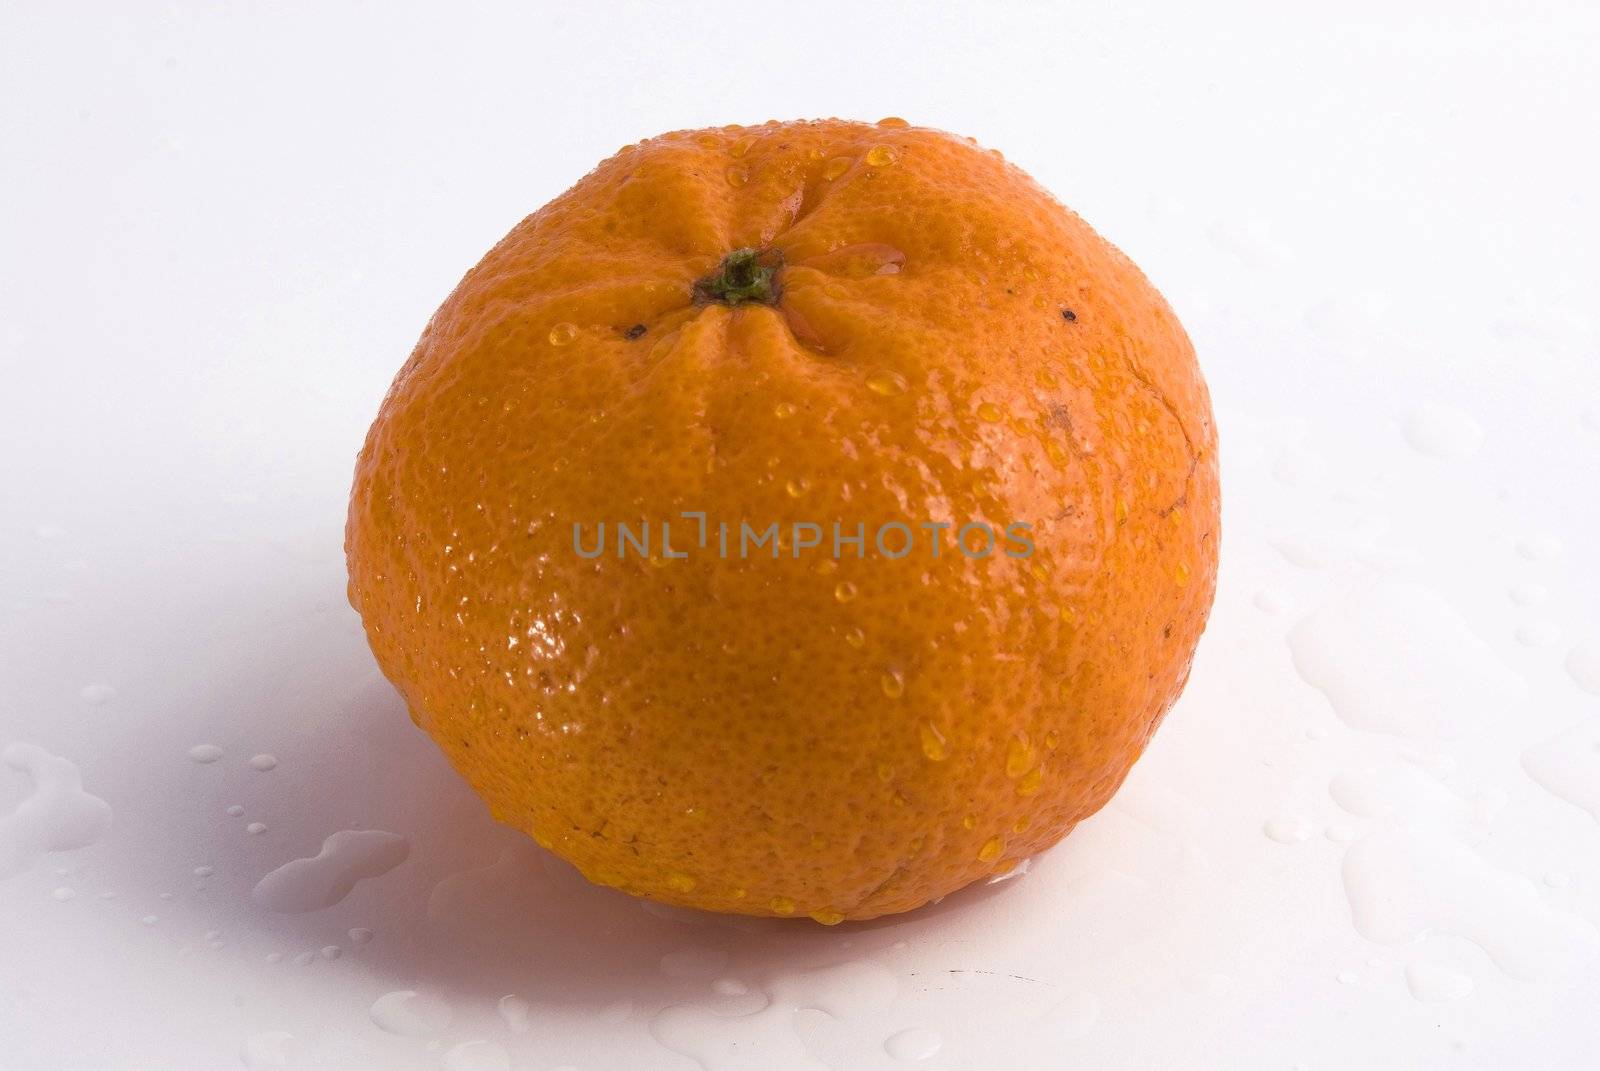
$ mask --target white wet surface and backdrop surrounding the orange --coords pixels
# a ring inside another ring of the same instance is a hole
[[[114,818],[0,767],[0,1066],[1600,1065],[1600,18],[757,6],[8,8],[0,746]],[[1114,804],[834,930],[491,824],[341,557],[382,391],[504,231],[637,138],[827,114],[974,134],[1126,248],[1226,491]],[[403,844],[253,898],[363,828]]]

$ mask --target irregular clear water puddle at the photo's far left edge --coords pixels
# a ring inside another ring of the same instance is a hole
[[[0,759],[34,781],[8,815],[0,815],[0,879],[21,874],[48,852],[94,844],[110,828],[110,805],[83,791],[78,768],[35,744],[10,744]]]

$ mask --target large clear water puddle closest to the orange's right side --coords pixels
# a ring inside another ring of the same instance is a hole
[[[1288,644],[1299,676],[1355,728],[1450,740],[1526,690],[1450,604],[1410,583],[1360,588],[1301,620]]]

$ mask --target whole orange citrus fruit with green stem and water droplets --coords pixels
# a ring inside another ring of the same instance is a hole
[[[445,301],[346,548],[496,818],[634,895],[832,924],[1117,789],[1210,612],[1216,439],[1166,303],[998,154],[685,131]]]

